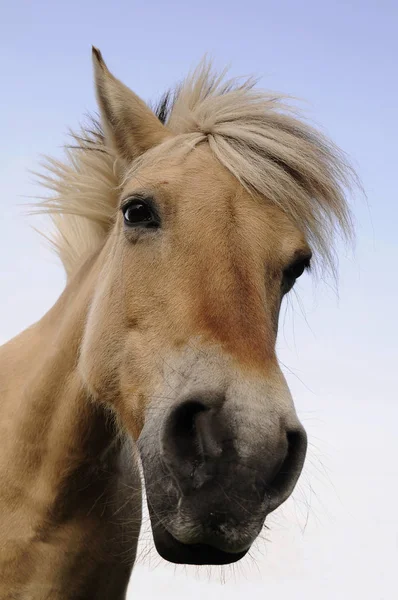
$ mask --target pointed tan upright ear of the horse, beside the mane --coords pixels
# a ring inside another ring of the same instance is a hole
[[[108,70],[93,47],[97,99],[108,143],[127,161],[171,137],[150,108]]]

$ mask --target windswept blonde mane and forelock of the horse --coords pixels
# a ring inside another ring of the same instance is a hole
[[[156,112],[176,136],[138,164],[207,142],[242,185],[285,211],[316,255],[333,267],[335,234],[351,233],[345,194],[355,175],[344,155],[299,119],[285,97],[256,89],[253,80],[225,80],[224,75],[202,62],[163,98]],[[47,173],[40,178],[53,195],[38,208],[51,214],[51,242],[68,276],[104,242],[125,176],[96,123],[72,135],[67,160],[46,161]]]

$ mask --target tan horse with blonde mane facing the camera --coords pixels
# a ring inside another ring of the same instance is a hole
[[[307,448],[281,304],[352,229],[348,161],[289,99],[204,60],[151,108],[93,64],[99,120],[37,206],[66,286],[0,351],[3,600],[125,598],[142,485],[164,559],[248,552]]]

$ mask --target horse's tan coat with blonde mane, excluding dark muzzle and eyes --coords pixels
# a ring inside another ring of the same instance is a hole
[[[1,600],[124,597],[141,506],[129,436],[171,401],[169,356],[217,349],[293,419],[282,272],[309,246],[329,258],[349,226],[343,163],[279,99],[202,65],[166,128],[94,58],[106,137],[75,136],[43,180],[68,285],[0,353]],[[159,232],[123,227],[121,199],[143,192]]]

